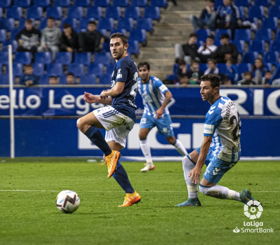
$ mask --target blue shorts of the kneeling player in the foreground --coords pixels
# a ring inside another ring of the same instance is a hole
[[[200,152],[200,147],[196,149],[198,153]],[[207,166],[203,178],[208,180],[211,183],[217,184],[220,179],[222,179],[223,175],[230,170],[236,162],[227,162],[223,161],[216,156],[213,156],[211,148],[209,148],[207,157],[205,160],[205,165]]]

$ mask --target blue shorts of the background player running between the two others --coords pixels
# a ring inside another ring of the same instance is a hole
[[[174,135],[171,123],[172,121],[169,114],[162,116],[160,119],[156,119],[152,115],[145,113],[140,121],[140,129],[152,129],[153,127],[157,127],[160,134],[163,134],[165,137],[171,137]]]

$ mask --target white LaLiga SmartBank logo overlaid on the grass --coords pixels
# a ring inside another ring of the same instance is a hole
[[[259,219],[262,212],[263,207],[258,201],[250,200],[244,205],[244,215],[250,220]],[[243,221],[243,227],[239,229],[236,226],[232,231],[234,233],[273,233],[272,227],[263,228],[262,226],[264,226],[263,222],[256,222],[255,220],[250,222]]]

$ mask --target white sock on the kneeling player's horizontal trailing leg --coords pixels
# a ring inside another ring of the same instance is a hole
[[[199,185],[199,191],[210,197],[216,197],[219,199],[230,199],[241,202],[239,193],[234,190],[230,190],[225,186],[213,185],[211,187],[203,187]]]

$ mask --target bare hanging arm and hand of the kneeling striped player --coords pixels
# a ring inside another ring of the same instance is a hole
[[[192,180],[192,183],[198,184],[201,175],[201,169],[204,165],[210,144],[212,142],[211,136],[204,136],[203,142],[200,147],[200,153],[195,167],[189,172],[189,177]]]

